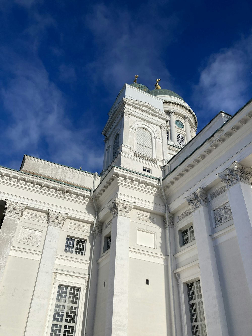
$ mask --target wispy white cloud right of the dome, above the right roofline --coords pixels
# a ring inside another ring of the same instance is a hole
[[[211,55],[193,94],[201,118],[220,110],[233,114],[241,108],[251,98],[251,72],[252,35]]]

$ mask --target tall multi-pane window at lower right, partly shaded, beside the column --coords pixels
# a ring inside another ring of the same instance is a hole
[[[192,336],[207,336],[200,281],[187,284]]]

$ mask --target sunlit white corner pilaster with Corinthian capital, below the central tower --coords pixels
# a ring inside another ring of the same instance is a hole
[[[134,204],[115,198],[108,207],[113,219],[105,336],[128,335],[129,212]]]

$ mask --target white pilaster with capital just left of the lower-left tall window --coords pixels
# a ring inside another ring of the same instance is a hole
[[[53,271],[58,250],[59,235],[67,215],[67,213],[49,210],[47,233],[40,259],[25,336],[44,336],[53,287]]]

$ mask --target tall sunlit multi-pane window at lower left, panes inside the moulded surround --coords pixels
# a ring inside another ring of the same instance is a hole
[[[58,286],[50,336],[74,335],[80,289]]]

